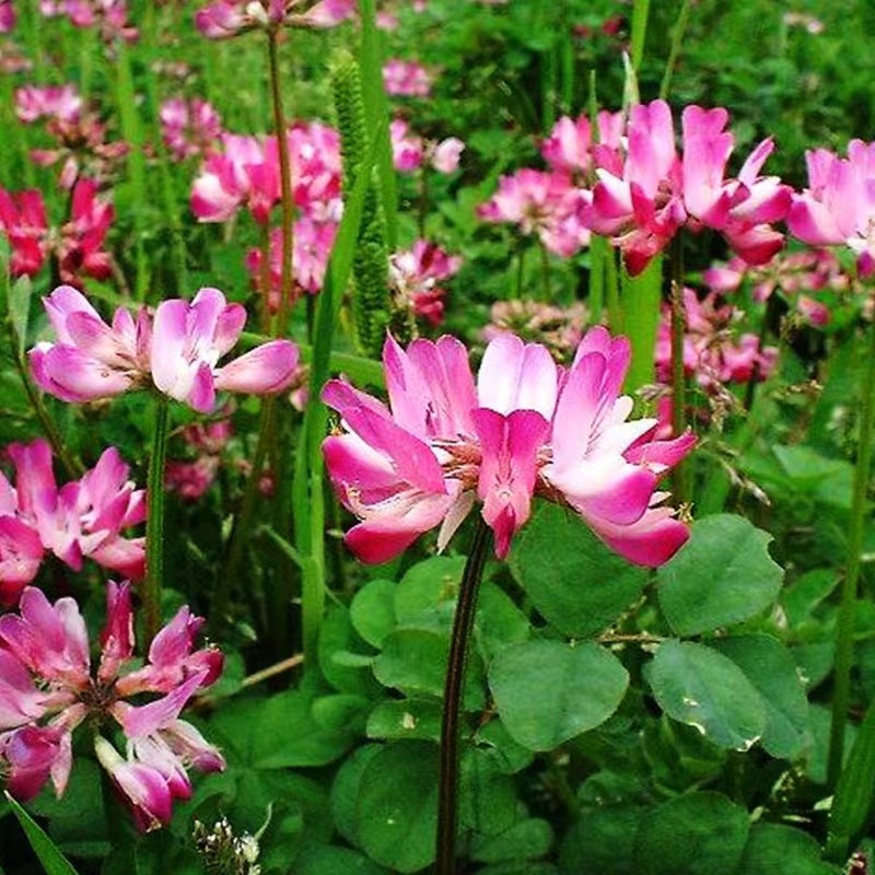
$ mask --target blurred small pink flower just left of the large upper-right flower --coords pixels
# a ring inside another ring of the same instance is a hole
[[[512,222],[537,234],[553,254],[568,258],[590,245],[585,224],[590,192],[561,173],[521,170],[499,179],[499,190],[477,213],[487,222]]]

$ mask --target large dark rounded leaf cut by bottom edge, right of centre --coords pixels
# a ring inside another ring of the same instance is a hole
[[[747,812],[720,793],[689,793],[669,800],[641,820],[634,852],[638,872],[734,875],[748,829]]]

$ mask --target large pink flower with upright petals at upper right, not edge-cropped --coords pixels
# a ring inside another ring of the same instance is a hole
[[[687,226],[723,233],[748,264],[765,264],[782,246],[770,223],[782,219],[790,189],[778,177],[760,177],[772,151],[760,143],[737,178],[725,178],[734,138],[724,131],[725,109],[688,106],[684,110],[684,150],[678,156],[672,110],[664,101],[633,106],[621,172],[598,167],[587,222],[614,237],[632,275]]]

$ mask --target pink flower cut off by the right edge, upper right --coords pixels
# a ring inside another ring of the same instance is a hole
[[[793,196],[790,232],[814,246],[848,246],[864,279],[875,271],[875,142],[851,140],[848,158],[805,153],[808,188]]]

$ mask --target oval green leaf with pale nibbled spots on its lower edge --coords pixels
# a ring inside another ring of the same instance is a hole
[[[744,672],[711,648],[666,641],[651,664],[660,708],[720,747],[747,750],[766,728],[766,705]]]

